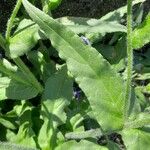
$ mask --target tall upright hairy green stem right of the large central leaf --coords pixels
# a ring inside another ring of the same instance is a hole
[[[131,99],[131,83],[133,68],[133,49],[132,49],[132,0],[127,0],[127,82],[125,93],[125,120],[128,118],[128,110]]]

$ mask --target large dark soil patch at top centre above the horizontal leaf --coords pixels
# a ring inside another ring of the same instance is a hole
[[[54,17],[76,16],[99,18],[126,4],[126,0],[63,0]]]

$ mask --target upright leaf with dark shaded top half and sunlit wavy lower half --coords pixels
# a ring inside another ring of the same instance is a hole
[[[64,108],[72,98],[72,80],[67,75],[66,67],[52,75],[46,82],[41,115],[44,124],[38,141],[42,150],[53,150],[56,145],[57,127],[65,123]]]

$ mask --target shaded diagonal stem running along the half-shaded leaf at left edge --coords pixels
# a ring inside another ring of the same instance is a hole
[[[24,64],[24,62],[20,58],[15,58],[14,62],[22,70],[24,75],[29,79],[29,81],[33,84],[33,86],[35,86],[41,93],[43,91],[42,85],[37,81],[35,76],[32,74],[29,68]]]

